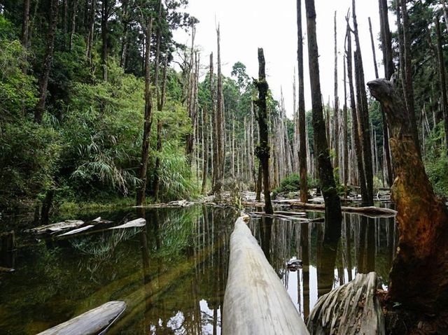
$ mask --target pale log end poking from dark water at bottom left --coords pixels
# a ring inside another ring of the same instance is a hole
[[[38,335],[94,335],[106,329],[125,311],[125,301],[109,301]]]

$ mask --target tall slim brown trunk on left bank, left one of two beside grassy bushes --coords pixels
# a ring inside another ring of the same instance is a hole
[[[143,141],[141,144],[141,162],[139,178],[141,185],[137,188],[137,206],[144,206],[146,200],[146,178],[148,171],[148,157],[149,157],[149,139],[151,135],[151,124],[153,123],[153,99],[151,97],[151,69],[149,64],[149,57],[151,53],[151,30],[153,20],[148,19],[145,27],[145,117],[143,128]]]

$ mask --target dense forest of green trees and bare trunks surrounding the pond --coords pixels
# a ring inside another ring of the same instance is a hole
[[[385,299],[445,315],[448,260],[446,248],[437,256],[434,248],[448,236],[448,3],[378,0],[371,15],[380,27],[369,17],[363,41],[373,59],[360,48],[356,6],[335,12],[318,36],[314,1],[297,0],[297,41],[285,42],[297,44],[283,83],[294,92],[290,113],[283,92],[276,99],[269,88],[262,48],[258,74],[235,62],[225,76],[217,23],[216,45],[202,55],[188,0],[0,0],[0,214],[34,213],[38,225],[86,204],[209,197],[241,210],[254,192],[251,204],[274,215],[271,197],[298,195],[303,206],[322,197],[322,252],[331,253],[341,204],[374,206],[394,185],[400,242]],[[346,27],[344,45],[337,26]],[[320,43],[334,43],[328,99]],[[367,63],[375,78],[365,77]],[[412,220],[418,227],[407,229]],[[443,320],[430,325],[443,329]]]

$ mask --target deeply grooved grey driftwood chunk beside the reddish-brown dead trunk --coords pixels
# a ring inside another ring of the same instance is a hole
[[[318,299],[307,320],[311,334],[385,334],[384,315],[375,295],[377,274],[356,275],[350,283]]]

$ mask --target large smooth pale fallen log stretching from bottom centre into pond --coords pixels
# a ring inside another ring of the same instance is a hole
[[[244,217],[230,237],[223,334],[309,334]]]

